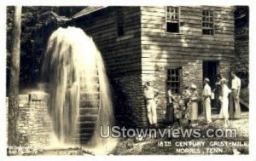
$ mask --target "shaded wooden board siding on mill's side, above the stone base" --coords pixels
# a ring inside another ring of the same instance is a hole
[[[93,37],[110,73],[141,70],[140,8],[123,7],[125,36],[117,35],[117,8],[108,7],[76,20]]]

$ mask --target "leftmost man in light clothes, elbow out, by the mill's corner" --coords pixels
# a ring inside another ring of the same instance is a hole
[[[158,95],[158,90],[150,86],[149,82],[146,82],[144,85],[144,99],[147,104],[148,112],[148,121],[150,125],[157,124],[157,115],[156,115],[156,102],[154,98]]]

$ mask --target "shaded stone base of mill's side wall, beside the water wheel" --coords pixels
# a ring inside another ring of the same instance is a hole
[[[116,124],[127,127],[148,125],[140,72],[116,75],[111,80]]]

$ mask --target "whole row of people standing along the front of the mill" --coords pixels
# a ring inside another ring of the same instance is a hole
[[[212,123],[212,94],[217,93],[218,102],[220,104],[219,118],[224,118],[224,127],[229,127],[229,119],[241,118],[241,107],[239,102],[239,94],[241,89],[241,79],[238,78],[235,72],[231,72],[231,87],[227,85],[227,80],[218,76],[218,81],[215,83],[216,88],[211,89],[209,78],[204,78],[204,87],[201,96],[195,84],[183,87],[183,94],[176,95],[172,93],[172,89],[167,90],[167,107],[166,107],[166,122],[179,124],[180,118],[188,118],[189,124],[192,126],[197,124],[199,113],[199,101],[201,101],[205,119],[207,124]],[[147,104],[149,124],[157,124],[156,101],[154,98],[160,92],[150,86],[150,83],[145,83],[144,99]]]

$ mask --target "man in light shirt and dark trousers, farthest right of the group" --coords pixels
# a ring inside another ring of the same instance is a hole
[[[231,72],[231,78],[230,118],[241,118],[241,107],[239,100],[241,79],[236,76],[235,72]]]

